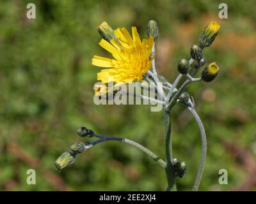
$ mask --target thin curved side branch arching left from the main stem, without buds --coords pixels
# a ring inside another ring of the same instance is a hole
[[[93,136],[96,136],[97,138],[100,138],[100,140],[96,140],[94,142],[89,143],[88,145],[86,145],[86,149],[90,149],[94,145],[97,145],[98,143],[102,143],[102,142],[106,142],[106,141],[124,142],[124,143],[127,143],[129,145],[132,145],[133,147],[136,147],[136,148],[142,150],[150,158],[152,158],[154,161],[156,161],[160,166],[163,166],[163,168],[166,168],[166,163],[163,161],[163,159],[161,159],[159,156],[157,156],[156,154],[154,154],[153,152],[148,150],[146,147],[143,147],[139,143],[136,143],[136,142],[134,142],[132,140],[129,140],[127,138],[117,138],[117,137],[113,137],[113,136],[102,136],[102,135],[96,135],[96,134],[94,134]]]

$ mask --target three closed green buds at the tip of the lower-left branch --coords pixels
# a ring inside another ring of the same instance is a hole
[[[93,131],[87,129],[85,127],[81,127],[77,129],[77,135],[81,137],[92,137]],[[77,142],[70,145],[70,152],[64,152],[60,157],[55,161],[55,166],[58,170],[63,170],[63,168],[67,168],[72,166],[76,161],[76,155],[79,153],[83,153],[88,147],[88,143]]]

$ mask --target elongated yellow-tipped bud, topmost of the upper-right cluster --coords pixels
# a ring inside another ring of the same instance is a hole
[[[212,21],[199,36],[200,47],[209,47],[219,33],[220,25]]]

